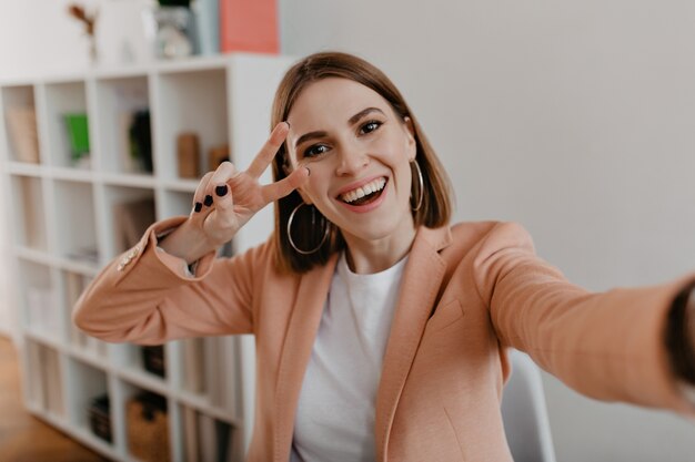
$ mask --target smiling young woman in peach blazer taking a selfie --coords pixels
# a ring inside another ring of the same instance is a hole
[[[507,347],[590,397],[693,413],[694,276],[591,294],[518,225],[450,226],[415,116],[357,58],[296,63],[272,119],[246,171],[208,173],[190,216],[150,227],[74,312],[109,341],[254,333],[250,461],[510,461]],[[215,259],[272,202],[269,240]]]

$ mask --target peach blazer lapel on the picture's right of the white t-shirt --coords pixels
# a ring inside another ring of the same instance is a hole
[[[444,277],[446,265],[439,250],[450,242],[449,227],[421,227],[405,266],[376,393],[377,461],[385,460],[401,391]]]

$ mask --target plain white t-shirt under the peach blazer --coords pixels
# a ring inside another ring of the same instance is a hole
[[[300,392],[292,462],[375,459],[376,389],[406,259],[357,275],[341,256]]]

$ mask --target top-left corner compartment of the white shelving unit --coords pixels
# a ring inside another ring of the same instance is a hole
[[[33,85],[4,86],[0,92],[9,161],[39,164],[41,150]]]

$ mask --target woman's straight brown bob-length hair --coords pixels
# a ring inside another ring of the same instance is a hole
[[[341,52],[321,52],[311,54],[295,63],[286,72],[275,93],[271,115],[271,129],[288,119],[294,102],[302,91],[313,82],[326,78],[341,78],[361,83],[379,93],[386,100],[395,114],[401,119],[410,117],[413,123],[416,143],[415,162],[422,171],[424,194],[422,205],[413,211],[415,226],[424,225],[435,228],[449,223],[451,217],[451,185],[449,177],[437,160],[434,150],[427,142],[417,119],[403,100],[401,92],[389,78],[369,62]],[[286,143],[283,144],[273,160],[274,181],[284,178],[290,168],[286,157]],[[412,208],[416,208],[420,197],[420,179],[413,171],[413,186],[411,194]],[[275,234],[278,267],[282,271],[305,273],[316,265],[323,265],[330,256],[345,247],[341,230],[325,219],[313,206],[300,207],[292,222],[292,240],[301,249],[314,249],[310,254],[298,253],[290,244],[288,222],[295,207],[302,203],[296,191],[278,201],[275,206]],[[324,226],[329,227],[328,237],[324,237]],[[320,246],[319,244],[322,243]]]

